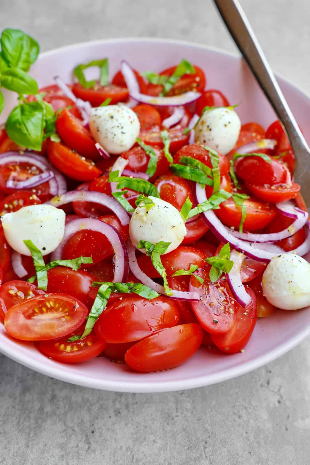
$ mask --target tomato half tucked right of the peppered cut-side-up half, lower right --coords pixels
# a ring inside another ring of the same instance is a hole
[[[257,321],[257,306],[255,293],[246,287],[251,297],[251,303],[243,308],[238,306],[237,319],[234,326],[224,334],[211,334],[211,339],[219,350],[226,353],[236,353],[244,349],[249,342]]]

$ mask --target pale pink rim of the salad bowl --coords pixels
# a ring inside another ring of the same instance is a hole
[[[148,37],[126,37],[126,38],[112,38],[112,39],[99,39],[99,40],[89,40],[84,42],[78,42],[74,44],[69,44],[65,46],[60,46],[57,48],[53,48],[51,50],[47,50],[45,52],[40,53],[40,57],[52,56],[54,54],[59,53],[60,51],[67,51],[73,50],[75,48],[79,48],[81,46],[96,46],[99,44],[106,44],[106,43],[121,43],[121,42],[153,42],[153,43],[169,43],[169,44],[178,44],[178,45],[186,45],[192,46],[197,48],[203,48],[205,50],[211,50],[215,53],[220,53],[225,56],[229,56],[234,59],[243,60],[242,56],[238,53],[228,52],[222,48],[215,47],[215,46],[207,46],[204,44],[200,44],[198,42],[191,42],[186,40],[178,40],[178,39],[161,39],[161,38],[148,38]],[[39,59],[40,59],[39,57]],[[294,91],[297,93],[302,94],[307,100],[310,100],[310,96],[295,86],[290,80],[284,78],[280,74],[276,74],[277,78],[285,81],[286,83],[290,84],[294,88]],[[310,104],[310,102],[309,102]],[[28,368],[33,369],[34,371],[40,372],[44,375],[49,377],[53,377],[59,379],[61,381],[66,381],[72,384],[91,387],[94,389],[101,389],[106,391],[113,391],[113,392],[171,392],[171,391],[181,391],[184,389],[193,389],[198,388],[206,385],[216,384],[222,381],[226,381],[228,379],[236,378],[237,376],[243,375],[245,373],[251,372],[256,370],[257,368],[271,362],[272,360],[277,359],[281,355],[284,355],[286,352],[289,352],[292,348],[296,345],[301,343],[303,339],[310,335],[310,325],[309,327],[305,327],[303,331],[299,332],[297,335],[292,337],[289,341],[285,341],[282,344],[278,345],[270,352],[258,356],[254,360],[247,361],[242,365],[232,366],[231,368],[227,368],[222,370],[221,372],[208,374],[203,376],[198,376],[195,378],[189,379],[182,379],[182,380],[173,380],[173,381],[117,381],[117,380],[106,380],[106,379],[96,379],[96,378],[86,378],[85,375],[81,375],[78,372],[66,372],[64,370],[63,364],[55,363],[53,366],[46,366],[42,361],[35,360],[29,355],[22,354],[15,356],[14,352],[12,352],[9,348],[9,345],[3,345],[0,342],[0,352],[6,355],[8,358],[13,359],[16,362],[19,362],[22,365],[27,366]]]

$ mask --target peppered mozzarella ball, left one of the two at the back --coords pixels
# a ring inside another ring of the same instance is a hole
[[[109,153],[129,150],[140,132],[138,116],[125,105],[92,108],[89,127],[96,142]]]

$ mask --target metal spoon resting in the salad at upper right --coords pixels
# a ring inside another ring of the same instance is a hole
[[[277,113],[296,156],[295,180],[310,206],[310,148],[290,111],[284,95],[266,60],[263,50],[237,0],[213,0],[237,47],[243,54],[258,84]]]

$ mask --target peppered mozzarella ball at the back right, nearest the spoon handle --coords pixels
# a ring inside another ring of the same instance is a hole
[[[195,129],[196,142],[226,155],[235,146],[240,128],[240,119],[231,108],[206,110]]]

